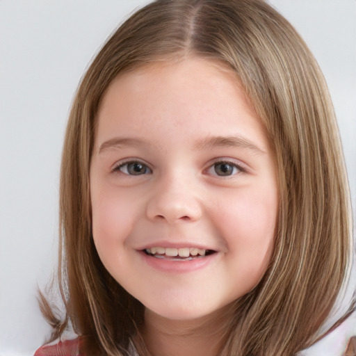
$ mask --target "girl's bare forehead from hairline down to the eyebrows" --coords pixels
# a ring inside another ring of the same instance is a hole
[[[237,74],[225,63],[189,58],[120,74],[102,99],[97,138],[155,136],[158,129],[172,140],[178,129],[184,138],[197,132],[228,136],[236,125],[239,136],[264,136]]]

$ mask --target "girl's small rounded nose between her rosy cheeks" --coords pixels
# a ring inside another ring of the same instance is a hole
[[[202,205],[197,189],[181,175],[170,176],[165,181],[156,181],[147,204],[149,220],[165,220],[167,223],[197,221],[202,216]]]

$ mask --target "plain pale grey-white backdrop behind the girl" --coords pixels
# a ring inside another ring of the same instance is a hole
[[[49,335],[36,288],[56,265],[60,152],[70,104],[102,42],[145,3],[0,0],[0,356],[33,355]],[[325,74],[355,207],[356,1],[270,3],[296,26]]]

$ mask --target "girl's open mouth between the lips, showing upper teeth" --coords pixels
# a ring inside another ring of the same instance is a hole
[[[163,248],[160,246],[145,248],[143,250],[147,256],[158,259],[170,259],[172,261],[191,261],[216,253],[214,250],[204,250],[201,248]]]

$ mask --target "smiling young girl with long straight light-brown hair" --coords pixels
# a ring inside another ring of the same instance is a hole
[[[351,215],[326,84],[291,25],[261,0],[155,1],[74,100],[66,317],[42,311],[51,341],[80,337],[35,355],[297,355],[353,311]]]

